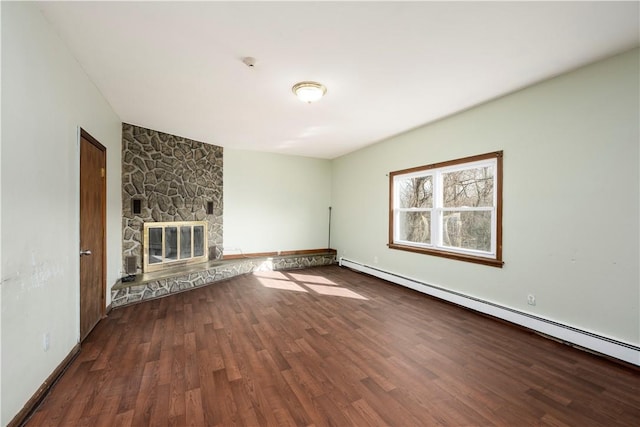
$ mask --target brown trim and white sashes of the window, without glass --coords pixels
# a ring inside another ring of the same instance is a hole
[[[409,252],[416,252],[425,255],[434,255],[439,257],[445,257],[450,259],[456,259],[460,261],[467,261],[477,264],[484,264],[493,267],[502,268],[504,262],[502,260],[502,151],[494,151],[486,154],[480,154],[476,156],[464,157],[461,159],[449,160],[446,162],[433,163],[425,166],[418,166],[409,169],[403,169],[393,171],[389,173],[389,243],[390,249],[398,249]],[[442,175],[448,172],[454,172],[457,170],[472,169],[474,166],[483,166],[488,163],[495,165],[494,171],[494,197],[493,206],[491,207],[444,207],[441,205],[443,191]],[[396,200],[396,180],[401,178],[415,178],[422,176],[432,176],[433,186],[433,204],[430,208],[400,208],[397,206],[398,200]],[[431,230],[435,230],[430,234],[430,243],[416,243],[409,242],[400,239],[396,239],[396,229],[399,229],[399,214],[401,212],[424,212],[431,211],[431,223],[436,222],[437,225],[432,225]],[[443,212],[446,211],[491,211],[491,251],[477,251],[473,249],[455,248],[451,246],[445,246],[444,242],[441,244],[442,226],[440,224],[440,217]],[[495,220],[493,220],[495,218]]]

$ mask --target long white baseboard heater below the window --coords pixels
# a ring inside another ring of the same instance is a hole
[[[371,267],[356,261],[340,257],[338,264],[371,276],[392,282],[433,297],[479,311],[533,331],[558,339],[570,345],[582,347],[596,353],[601,353],[624,362],[640,366],[640,347],[607,338],[592,332],[584,331],[543,317],[504,307],[479,298],[474,298],[459,292],[450,291],[438,286],[430,285],[419,280],[411,279],[400,274],[391,273],[376,267]]]

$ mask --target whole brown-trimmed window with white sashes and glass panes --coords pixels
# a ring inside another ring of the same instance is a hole
[[[502,267],[502,151],[389,174],[389,247]]]

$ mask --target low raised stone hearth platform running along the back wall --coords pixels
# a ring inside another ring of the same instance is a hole
[[[122,307],[205,286],[254,271],[294,270],[336,263],[336,252],[240,258],[182,267],[171,272],[139,274],[133,282],[118,282],[111,289],[111,307]]]

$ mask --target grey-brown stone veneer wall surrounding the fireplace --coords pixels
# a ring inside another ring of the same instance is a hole
[[[222,258],[222,147],[122,124],[122,236],[142,267],[143,224],[207,221],[209,259]],[[141,214],[132,212],[140,199]],[[207,215],[207,202],[213,215]]]

